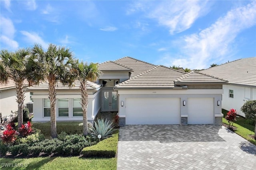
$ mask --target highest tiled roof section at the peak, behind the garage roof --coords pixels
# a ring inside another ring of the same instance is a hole
[[[123,57],[114,61],[115,63],[122,64],[128,68],[132,68],[134,72],[131,73],[131,77],[138,76],[139,74],[154,68],[156,65],[150,64],[141,60],[134,59],[132,57]]]

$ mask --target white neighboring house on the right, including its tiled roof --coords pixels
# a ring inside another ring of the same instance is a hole
[[[223,109],[236,109],[239,115],[244,116],[240,108],[246,101],[256,100],[256,57],[239,59],[201,72],[228,80],[229,84],[223,85]]]

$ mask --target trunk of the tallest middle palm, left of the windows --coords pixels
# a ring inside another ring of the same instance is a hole
[[[56,128],[56,89],[55,89],[55,80],[54,78],[49,78],[49,98],[50,98],[50,108],[51,108],[51,137],[56,138],[57,128]]]

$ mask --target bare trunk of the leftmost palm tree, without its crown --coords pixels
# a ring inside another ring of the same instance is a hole
[[[18,103],[18,127],[21,127],[23,123],[23,107],[24,107],[24,99],[25,99],[25,93],[24,89],[22,87],[22,80],[15,81],[16,85],[16,94],[17,99],[16,102]]]

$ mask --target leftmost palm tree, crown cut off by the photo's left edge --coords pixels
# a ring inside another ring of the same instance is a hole
[[[26,59],[30,55],[30,49],[19,49],[16,52],[8,50],[0,51],[0,82],[7,83],[8,80],[13,80],[16,86],[16,94],[18,103],[18,127],[21,127],[23,122],[23,107],[24,107],[24,80],[26,80]]]

